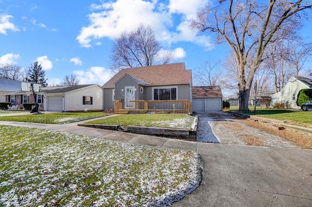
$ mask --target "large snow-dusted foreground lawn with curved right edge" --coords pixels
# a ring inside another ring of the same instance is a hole
[[[60,131],[0,125],[0,149],[0,206],[166,206],[201,179],[194,152]]]

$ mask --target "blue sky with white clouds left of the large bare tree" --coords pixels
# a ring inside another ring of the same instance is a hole
[[[208,0],[0,0],[0,62],[41,63],[48,83],[74,74],[81,84],[106,83],[112,41],[140,23],[151,25],[164,50],[187,69],[224,59],[227,45],[190,28]]]

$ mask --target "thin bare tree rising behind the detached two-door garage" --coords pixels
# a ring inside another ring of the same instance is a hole
[[[195,72],[195,81],[199,85],[218,85],[219,78],[222,74],[220,61],[215,62],[210,59],[201,64]]]

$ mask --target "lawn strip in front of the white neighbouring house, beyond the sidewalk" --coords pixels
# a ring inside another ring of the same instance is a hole
[[[44,112],[43,112],[44,113]],[[42,124],[67,124],[91,118],[111,115],[103,112],[67,112],[53,114],[30,114],[0,117],[0,121],[31,122]]]

